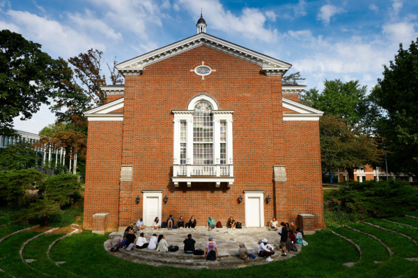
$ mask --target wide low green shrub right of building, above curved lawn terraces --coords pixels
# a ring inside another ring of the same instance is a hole
[[[401,216],[418,208],[418,190],[408,182],[349,181],[325,200],[330,211],[343,211],[358,220]]]

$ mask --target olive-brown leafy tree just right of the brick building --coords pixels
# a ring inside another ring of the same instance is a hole
[[[334,172],[336,167],[348,171],[362,165],[376,165],[382,160],[382,150],[374,138],[360,132],[361,126],[350,126],[348,119],[324,115],[319,120],[320,155],[323,172]]]

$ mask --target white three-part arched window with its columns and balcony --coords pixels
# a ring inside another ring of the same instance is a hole
[[[208,95],[189,101],[187,110],[173,110],[173,181],[233,183],[233,110],[220,110]]]

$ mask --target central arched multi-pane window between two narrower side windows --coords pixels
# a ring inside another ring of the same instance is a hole
[[[194,106],[193,116],[193,164],[213,164],[213,116],[208,101]]]

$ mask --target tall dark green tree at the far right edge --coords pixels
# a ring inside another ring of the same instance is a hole
[[[383,78],[373,89],[374,103],[383,109],[376,126],[387,145],[390,172],[418,177],[418,39],[409,49],[399,46],[395,59],[384,65]]]

